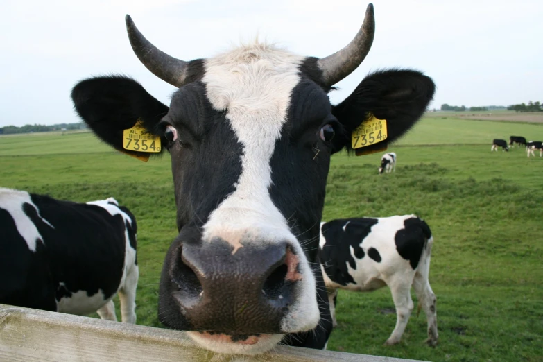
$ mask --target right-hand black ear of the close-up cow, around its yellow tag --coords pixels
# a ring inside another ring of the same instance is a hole
[[[352,131],[373,114],[385,119],[388,136],[363,150],[381,150],[404,135],[420,119],[433,98],[436,85],[418,71],[391,69],[370,74],[345,101],[335,105],[332,113],[343,125],[340,137],[333,141],[333,152],[344,147],[352,150]]]

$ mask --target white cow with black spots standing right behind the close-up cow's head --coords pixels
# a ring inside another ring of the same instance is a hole
[[[432,244],[430,227],[415,215],[321,223],[319,255],[334,326],[338,289],[374,291],[388,285],[397,320],[385,344],[399,343],[413,310],[413,286],[428,320],[426,343],[437,345],[436,295],[428,279]]]

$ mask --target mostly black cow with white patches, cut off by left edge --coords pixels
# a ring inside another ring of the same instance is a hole
[[[0,303],[135,323],[136,220],[114,198],[80,204],[0,188]]]

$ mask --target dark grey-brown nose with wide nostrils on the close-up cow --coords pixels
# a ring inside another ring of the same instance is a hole
[[[194,331],[277,334],[301,279],[288,243],[185,243],[174,266],[175,300]]]

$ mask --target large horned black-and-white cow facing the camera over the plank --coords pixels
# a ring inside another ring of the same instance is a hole
[[[322,349],[331,321],[318,235],[331,154],[353,153],[351,135],[370,117],[386,120],[388,135],[365,151],[398,139],[426,110],[433,80],[380,70],[331,105],[329,91],[370,50],[372,4],[354,40],[325,58],[255,41],[187,62],[128,15],[126,26],[139,60],[176,88],[169,107],[126,76],[82,80],[71,98],[113,148],[148,158],[123,139],[137,124],[170,154],[179,234],[164,258],[160,321],[214,352]]]

